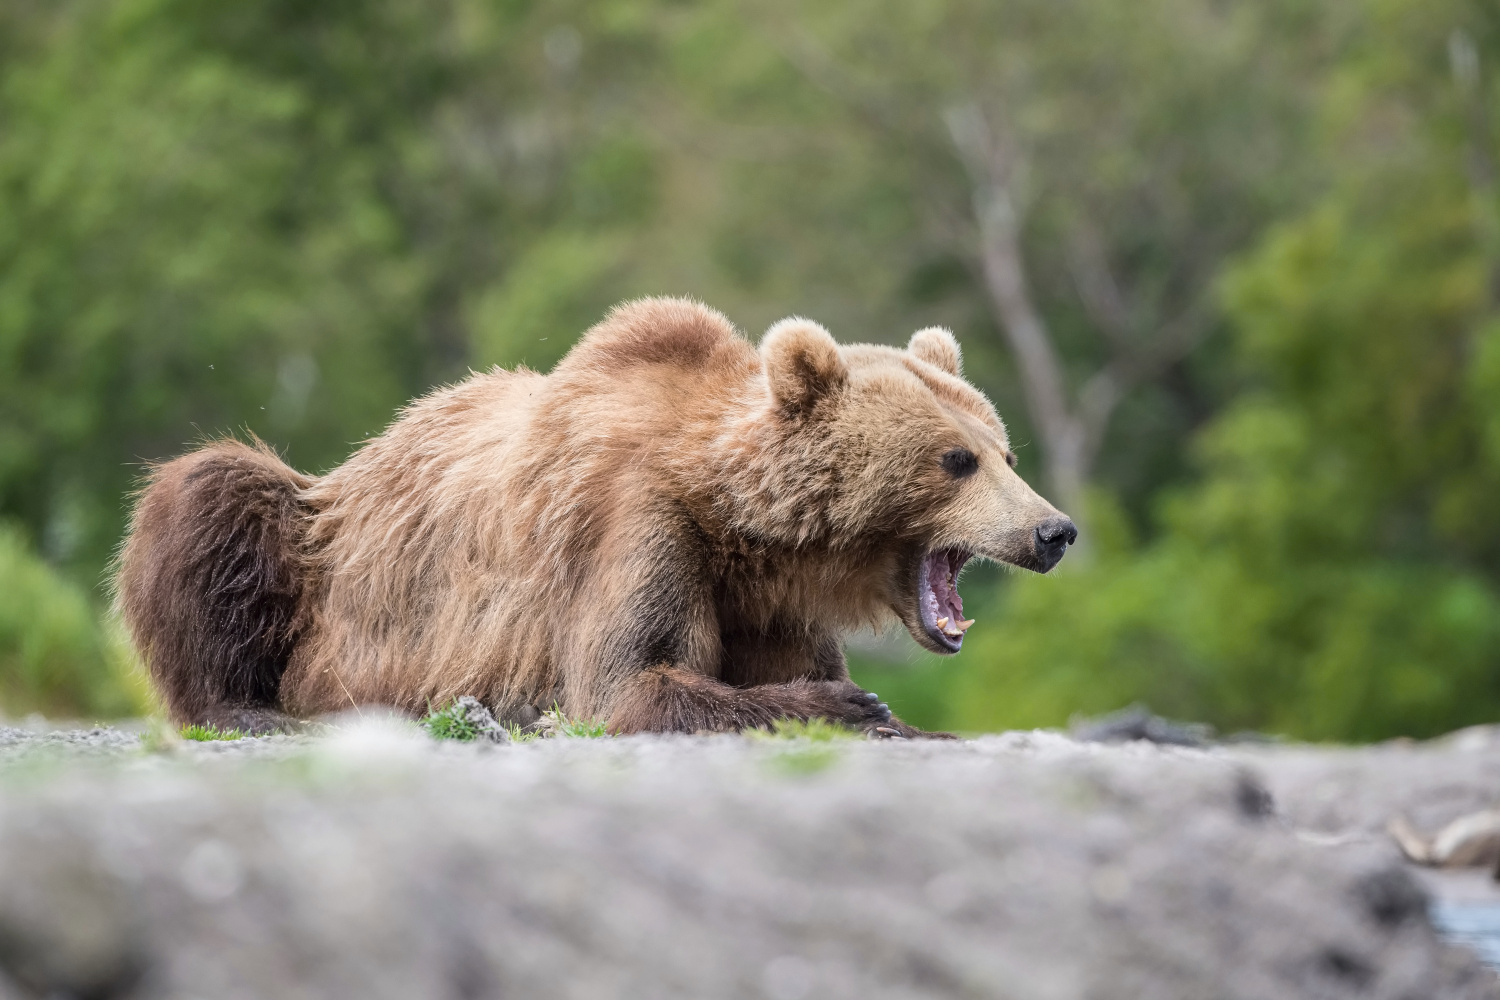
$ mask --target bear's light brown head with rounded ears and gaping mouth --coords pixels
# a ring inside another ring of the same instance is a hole
[[[819,528],[808,534],[870,555],[878,600],[927,649],[963,646],[972,622],[957,580],[969,559],[1047,573],[1077,538],[1017,475],[1005,424],[963,379],[946,330],[920,330],[900,351],[840,346],[814,322],[784,319],[760,361],[783,496]]]

